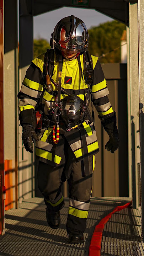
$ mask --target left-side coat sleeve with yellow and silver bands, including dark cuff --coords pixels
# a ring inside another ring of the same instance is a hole
[[[41,64],[41,65],[40,65]],[[31,65],[26,71],[25,78],[22,82],[21,90],[18,93],[19,119],[21,125],[31,124],[35,126],[36,116],[34,108],[36,107],[37,101],[43,91],[43,69],[42,59],[36,58],[32,61]]]

